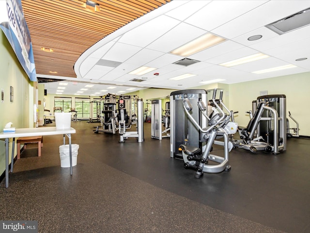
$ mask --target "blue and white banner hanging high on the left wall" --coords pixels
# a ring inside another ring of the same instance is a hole
[[[0,0],[0,28],[30,80],[36,82],[31,38],[21,0]]]

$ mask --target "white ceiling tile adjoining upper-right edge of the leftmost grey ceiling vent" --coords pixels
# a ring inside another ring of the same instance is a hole
[[[116,42],[113,47],[102,57],[102,59],[124,62],[141,49],[142,48],[137,46]]]

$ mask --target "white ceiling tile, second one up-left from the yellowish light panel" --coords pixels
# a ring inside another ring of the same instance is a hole
[[[162,15],[124,33],[118,42],[145,47],[179,23],[179,20]]]

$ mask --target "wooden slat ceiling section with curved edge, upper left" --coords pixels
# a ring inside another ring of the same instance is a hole
[[[92,1],[95,8],[86,0],[22,0],[37,74],[76,77],[73,66],[80,54],[170,0]]]

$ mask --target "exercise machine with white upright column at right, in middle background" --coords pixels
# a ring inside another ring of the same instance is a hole
[[[138,105],[138,116],[137,116],[137,130],[127,131],[132,126],[131,121],[129,121],[129,116],[125,108],[125,100],[118,100],[118,126],[120,140],[119,142],[124,143],[128,137],[136,137],[138,142],[144,141],[144,129],[143,129],[143,100],[137,100]],[[129,123],[129,124],[128,124]]]

